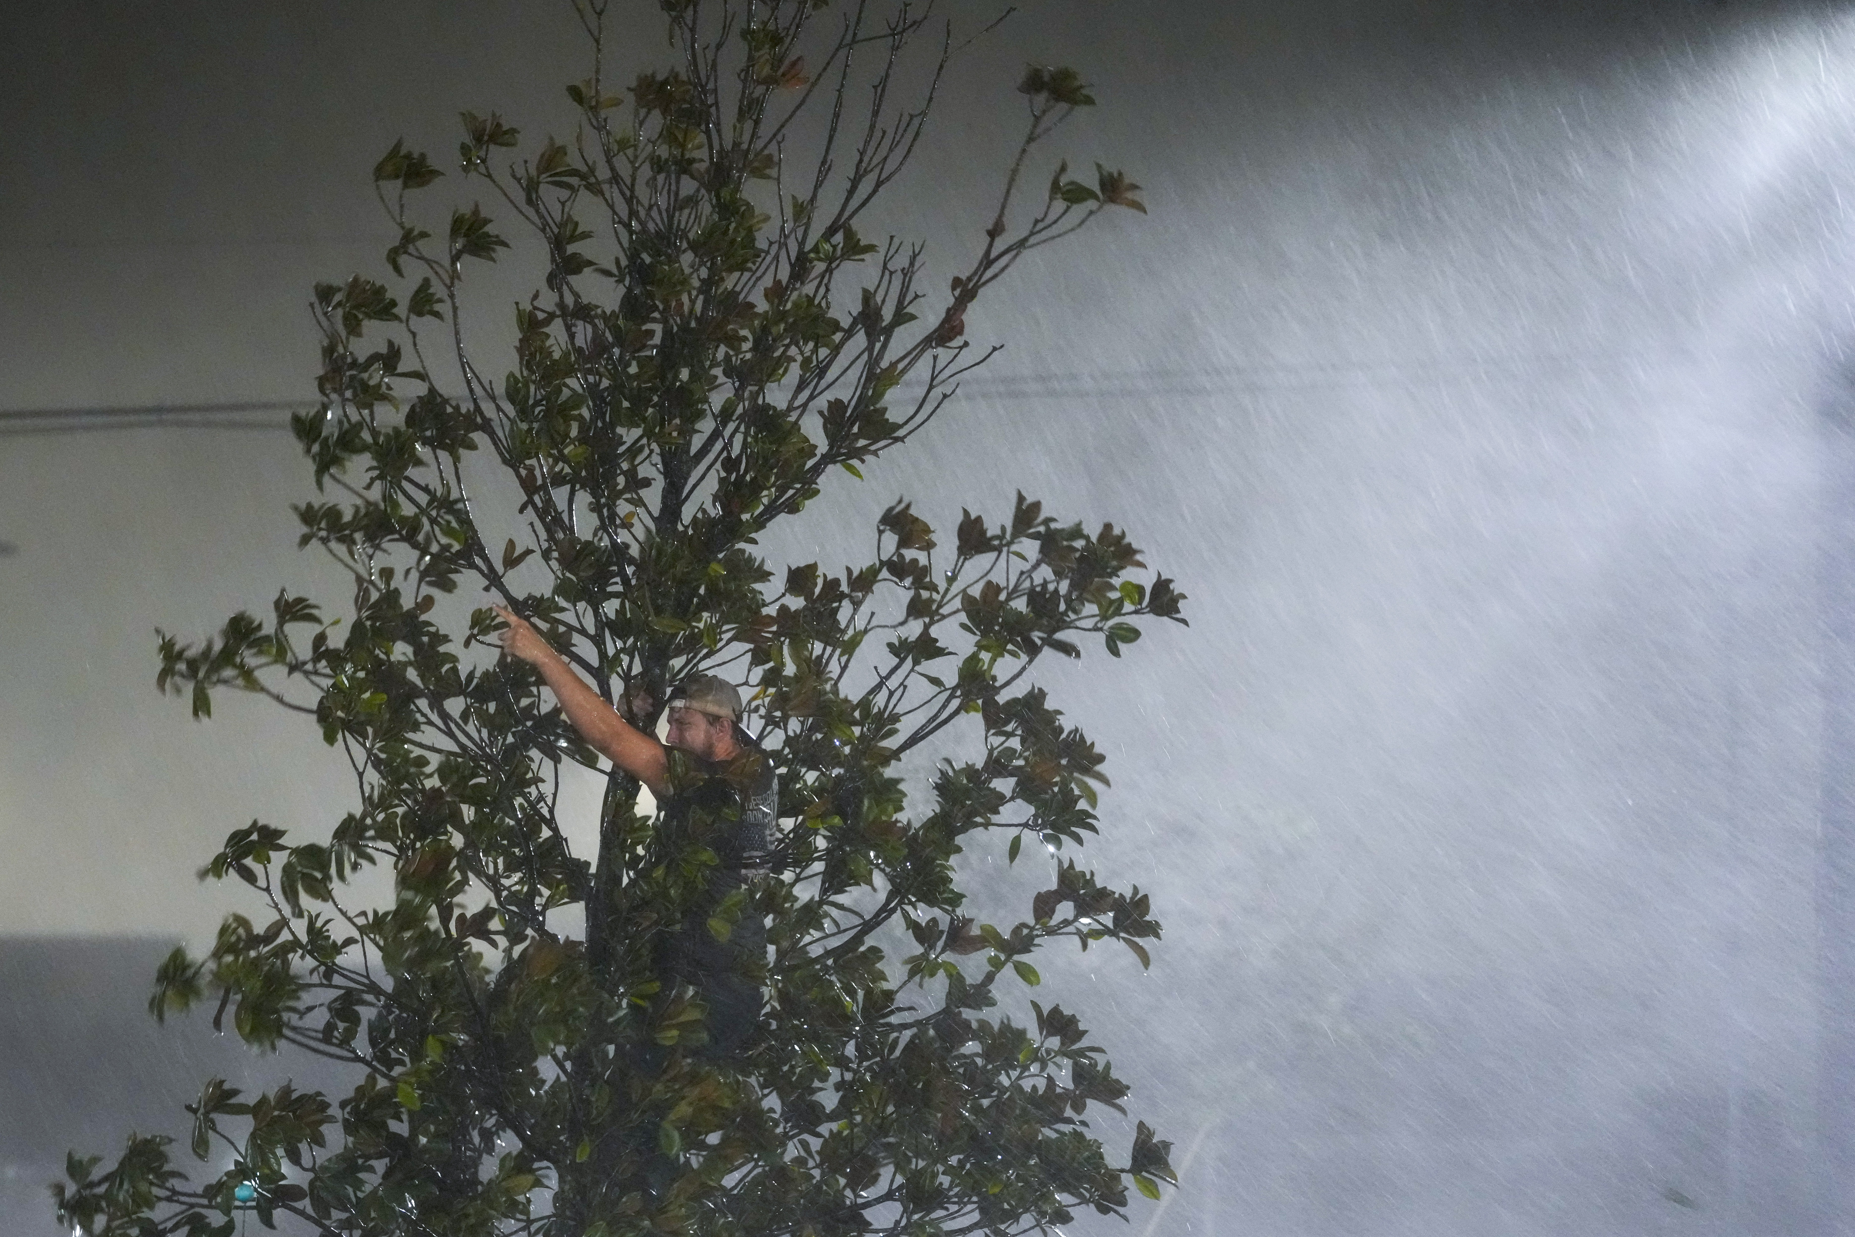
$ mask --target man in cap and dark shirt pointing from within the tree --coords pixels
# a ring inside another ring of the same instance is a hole
[[[534,666],[588,746],[651,788],[662,807],[657,848],[666,861],[714,853],[694,874],[681,920],[657,942],[664,987],[688,983],[709,1009],[709,1055],[733,1057],[761,1016],[766,920],[744,905],[774,833],[774,766],[740,729],[740,692],[716,675],[686,681],[670,699],[670,744],[625,721],[521,616],[495,606],[510,657]]]

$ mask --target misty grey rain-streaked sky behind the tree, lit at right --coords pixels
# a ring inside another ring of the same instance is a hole
[[[555,7],[9,15],[7,1233],[211,1072],[328,1076],[145,1014],[247,909],[195,881],[226,831],[352,796],[313,725],[161,699],[152,632],[328,584],[308,289],[378,269],[395,137],[566,124]],[[1855,1231],[1855,11],[1024,4],[883,213],[939,280],[1026,61],[1100,100],[1044,154],[1150,215],[981,300],[1004,352],[768,555],[1022,490],[1191,595],[1044,677],[1107,755],[1087,853],[1165,924],[1044,983],[1133,1083],[1102,1137],[1180,1172],[1076,1231]]]

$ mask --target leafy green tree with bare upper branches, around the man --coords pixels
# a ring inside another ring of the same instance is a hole
[[[440,178],[425,154],[395,143],[375,169],[410,291],[317,286],[321,406],[293,419],[334,497],[297,508],[301,543],[351,575],[351,612],[286,590],[269,619],[161,636],[163,690],[191,692],[197,718],[219,688],[312,716],[358,805],[325,842],[232,833],[208,874],[252,885],[265,912],[230,916],[204,959],[176,950],[150,1007],[217,1001],[215,1024],[230,1013],[247,1042],[330,1057],[358,1085],[243,1098],[208,1081],[191,1150],[228,1167],[195,1183],[161,1137],[132,1137],[108,1170],[72,1157],[65,1224],[1018,1233],[1119,1213],[1128,1178],[1158,1196],[1172,1176],[1145,1124],[1119,1165],[1089,1135],[1089,1103],[1119,1109],[1126,1085],[1074,1014],[1011,992],[1018,1020],[979,1016],[1002,987],[1037,987],[1030,955],[1057,938],[1148,964],[1146,896],[1067,861],[994,927],[965,909],[955,857],[1096,831],[1102,757],[1031,670],[1080,657],[1081,636],[1120,657],[1130,619],[1183,621],[1182,595],[1130,579],[1145,564],[1119,529],[1022,495],[1004,521],[963,514],[952,547],[898,501],[876,558],[840,575],[812,562],[775,586],[757,556],[759,534],[905,443],[989,356],[965,313],[1005,271],[1107,206],[1145,210],[1137,185],[1057,167],[1020,206],[1031,148],[1093,104],[1074,70],[1030,69],[998,208],[937,300],[922,249],[859,223],[920,141],[950,33],[872,0],[660,7],[673,69],[616,91],[607,6],[579,0],[594,76],[568,89],[569,143],[499,167],[516,130],[464,115],[462,174],[545,265],[501,384],[464,343],[464,287],[473,263],[527,250],[479,204],[423,228],[417,191]],[[920,96],[898,108],[929,39]],[[781,829],[777,875],[710,920],[718,937],[748,911],[772,925],[742,1059],[699,1052],[699,998],[666,990],[644,948],[714,855],[666,855],[616,772],[597,855],[571,853],[562,762],[597,757],[484,645],[495,618],[460,582],[529,616],[640,727],[686,675],[748,681]],[[373,864],[391,903],[351,905]]]

